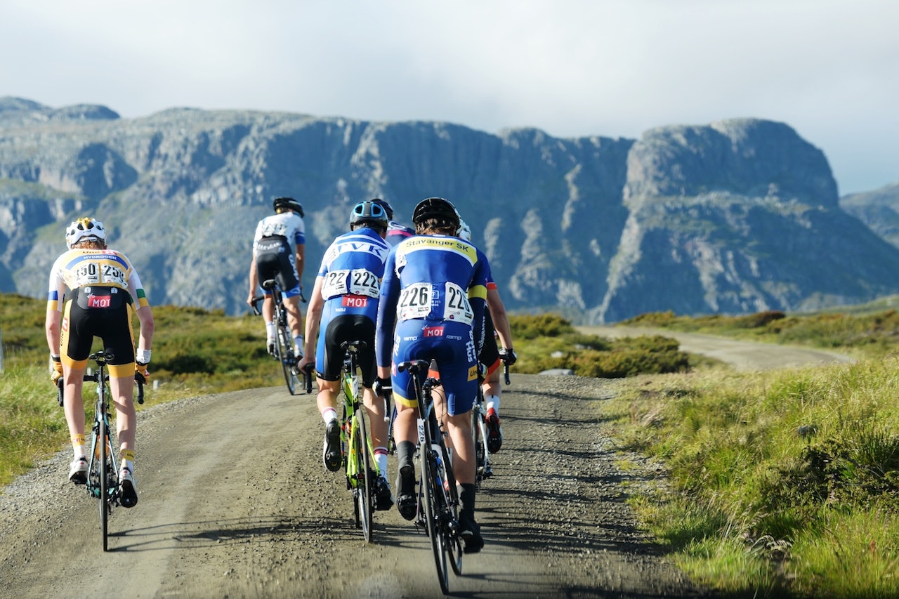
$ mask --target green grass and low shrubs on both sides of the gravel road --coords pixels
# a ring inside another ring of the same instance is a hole
[[[0,484],[66,447],[47,371],[43,302],[0,295]],[[258,317],[154,308],[147,405],[280,385]],[[628,324],[810,344],[850,365],[740,373],[672,339],[582,335],[563,317],[512,317],[517,372],[618,379],[604,402],[622,449],[667,472],[632,504],[673,559],[727,596],[899,596],[899,317],[644,315]],[[622,378],[628,377],[628,380]],[[85,390],[85,394],[90,391]]]

